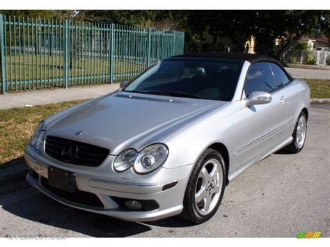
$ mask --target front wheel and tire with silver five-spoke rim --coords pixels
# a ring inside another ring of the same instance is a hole
[[[221,153],[207,148],[196,161],[189,177],[180,217],[197,224],[212,218],[223,198],[226,177]]]

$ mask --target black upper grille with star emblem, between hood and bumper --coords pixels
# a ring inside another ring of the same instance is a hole
[[[95,145],[47,136],[45,152],[59,161],[78,166],[100,166],[109,150]]]

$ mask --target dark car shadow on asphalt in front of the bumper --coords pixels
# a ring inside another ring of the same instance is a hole
[[[30,188],[30,190],[35,190]],[[33,191],[35,192],[35,191]],[[61,237],[73,237],[78,232],[91,237],[129,237],[152,230],[152,226],[164,228],[189,227],[194,224],[182,220],[178,217],[166,218],[159,221],[148,223],[121,221],[116,218],[85,212],[80,209],[74,209],[48,198],[42,193],[35,193],[31,197],[15,198],[14,202],[6,197],[0,198],[2,209],[14,214],[15,216],[38,222],[44,225],[50,225],[61,228]],[[6,234],[24,234],[24,235],[47,235],[49,228],[42,225],[31,225],[31,232],[8,232]],[[57,236],[58,237],[58,236]]]

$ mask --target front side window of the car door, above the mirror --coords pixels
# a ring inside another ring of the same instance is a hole
[[[274,77],[268,63],[261,62],[251,65],[244,84],[246,97],[253,91],[272,93],[275,89]]]

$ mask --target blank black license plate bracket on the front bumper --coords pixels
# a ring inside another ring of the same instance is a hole
[[[68,170],[63,170],[54,166],[48,167],[48,184],[57,189],[74,193],[76,191],[75,177],[75,173],[71,173]]]

